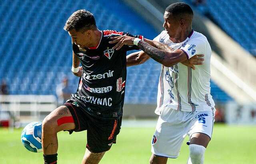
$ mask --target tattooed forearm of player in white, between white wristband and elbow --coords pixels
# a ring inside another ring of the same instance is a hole
[[[148,54],[148,56],[150,56],[152,59],[154,59],[157,62],[160,62],[162,64],[162,61],[165,58],[165,52],[157,49],[151,45],[149,45],[148,43],[144,42],[144,41],[139,41],[138,43],[138,47],[144,51],[145,53]]]

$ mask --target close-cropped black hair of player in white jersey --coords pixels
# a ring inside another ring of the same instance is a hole
[[[165,9],[165,11],[172,14],[172,16],[180,16],[182,14],[190,14],[192,16],[194,15],[192,8],[190,8],[188,4],[183,2],[176,2],[174,4],[170,4],[170,6]]]

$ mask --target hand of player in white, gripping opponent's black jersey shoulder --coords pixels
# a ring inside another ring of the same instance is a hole
[[[134,37],[129,37],[127,35],[119,36],[119,37],[111,37],[110,39],[113,39],[113,41],[110,41],[109,43],[117,43],[112,49],[119,50],[123,47],[123,45],[134,45]]]

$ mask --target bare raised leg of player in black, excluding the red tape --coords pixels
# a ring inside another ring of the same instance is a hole
[[[57,133],[63,130],[75,128],[74,123],[63,123],[58,125],[57,120],[62,117],[72,116],[66,106],[60,106],[52,111],[42,123],[42,148],[44,155],[56,154],[58,150]]]

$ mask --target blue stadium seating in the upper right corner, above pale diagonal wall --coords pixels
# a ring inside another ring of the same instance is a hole
[[[197,11],[218,24],[244,49],[256,56],[256,33],[252,32],[256,29],[255,0],[204,0],[197,5],[195,0],[185,2],[194,5]]]

